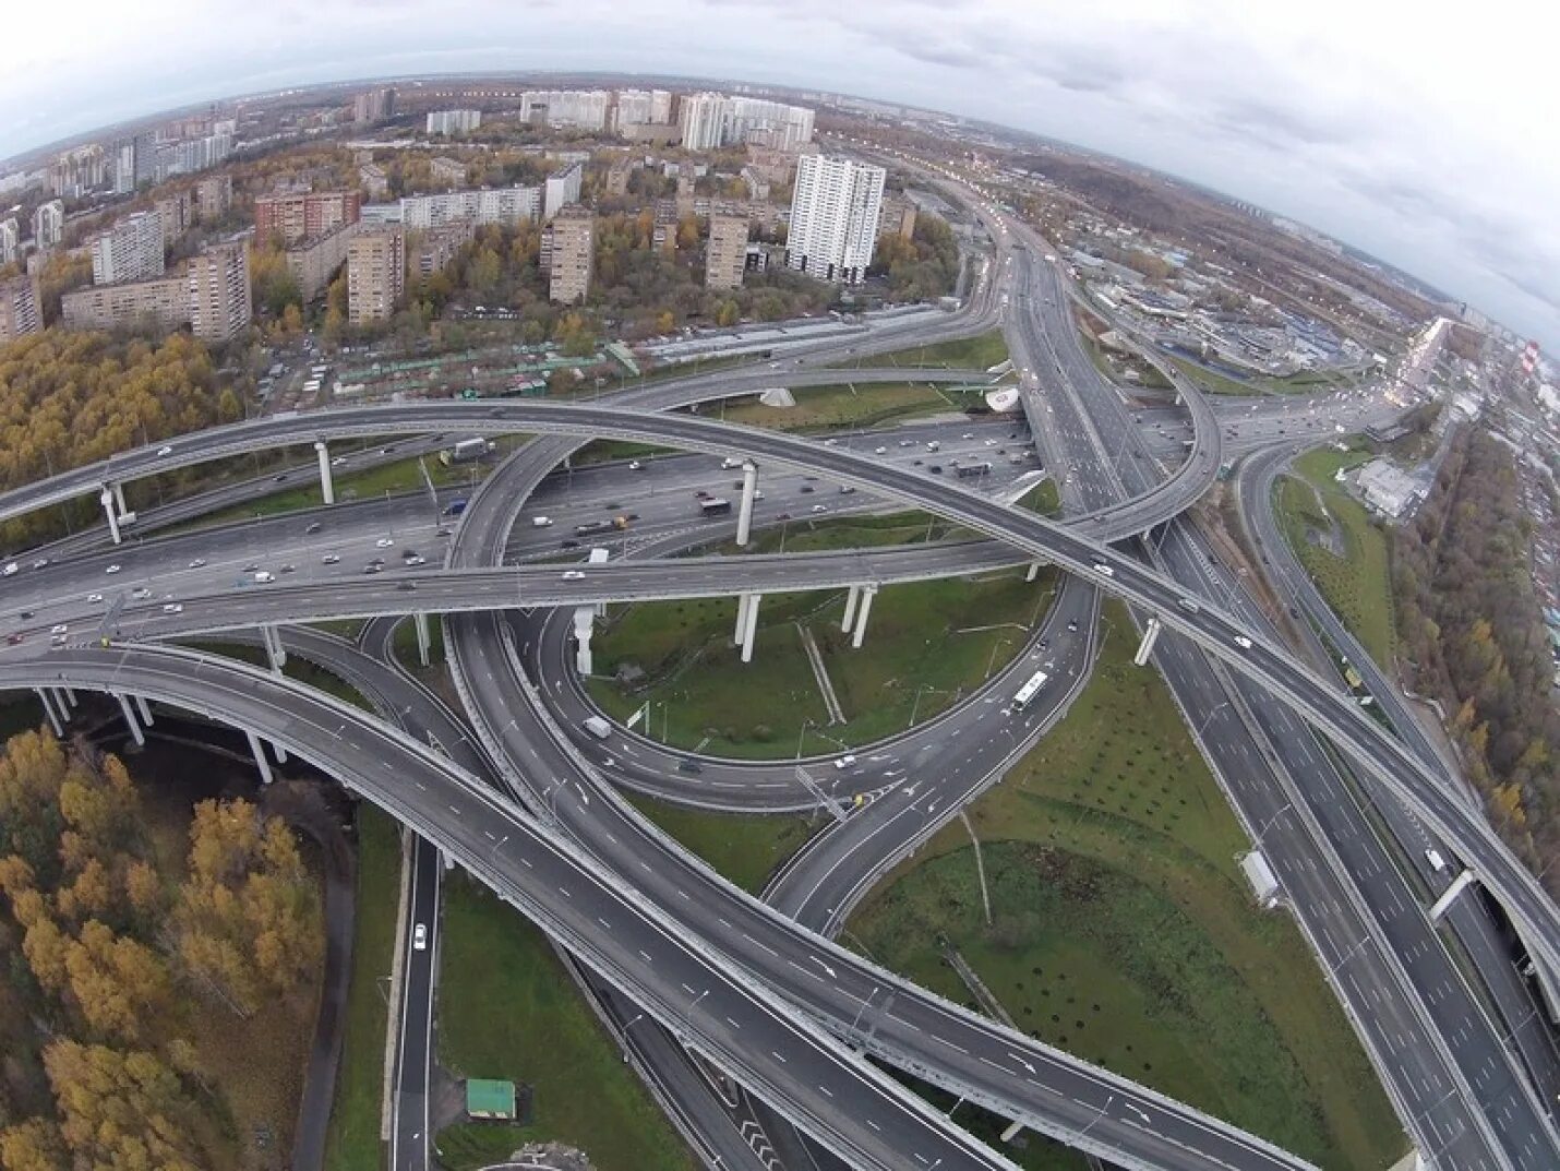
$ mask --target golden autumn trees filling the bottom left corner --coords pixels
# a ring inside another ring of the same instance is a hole
[[[140,807],[83,742],[25,732],[0,759],[3,1171],[242,1166],[245,1043],[314,1020],[321,906],[293,832],[201,801],[170,862]]]

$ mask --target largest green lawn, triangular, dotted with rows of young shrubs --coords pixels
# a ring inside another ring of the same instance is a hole
[[[1299,932],[1259,913],[1245,837],[1119,606],[1069,717],[852,920],[891,968],[969,1002],[956,946],[1019,1027],[1326,1168],[1382,1168],[1404,1138]],[[1039,1165],[1039,1163],[1037,1163]]]

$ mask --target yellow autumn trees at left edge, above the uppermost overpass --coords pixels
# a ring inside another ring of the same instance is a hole
[[[45,329],[0,347],[0,487],[242,414],[237,395],[218,387],[206,345],[189,334],[147,342]],[[53,523],[31,514],[0,528],[0,539],[22,542]]]

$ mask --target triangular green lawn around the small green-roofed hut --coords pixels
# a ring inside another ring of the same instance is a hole
[[[597,1171],[691,1171],[694,1160],[580,999],[546,937],[459,871],[445,885],[438,1059],[457,1077],[534,1094],[530,1126],[456,1127],[456,1171],[530,1140],[585,1151]],[[473,1130],[484,1130],[473,1135]],[[495,1146],[496,1143],[496,1146]],[[456,1157],[459,1148],[460,1157]]]

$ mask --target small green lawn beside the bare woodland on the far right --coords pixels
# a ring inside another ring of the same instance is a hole
[[[1278,521],[1299,564],[1349,634],[1360,640],[1377,667],[1390,671],[1396,650],[1396,618],[1387,534],[1371,520],[1365,506],[1332,479],[1338,468],[1354,467],[1367,459],[1367,453],[1332,448],[1299,456],[1295,472],[1304,482],[1289,478],[1279,481]],[[1321,493],[1326,517],[1317,511],[1317,492],[1312,489]],[[1343,534],[1343,557],[1335,557],[1306,539],[1307,528],[1331,529],[1329,518]]]

